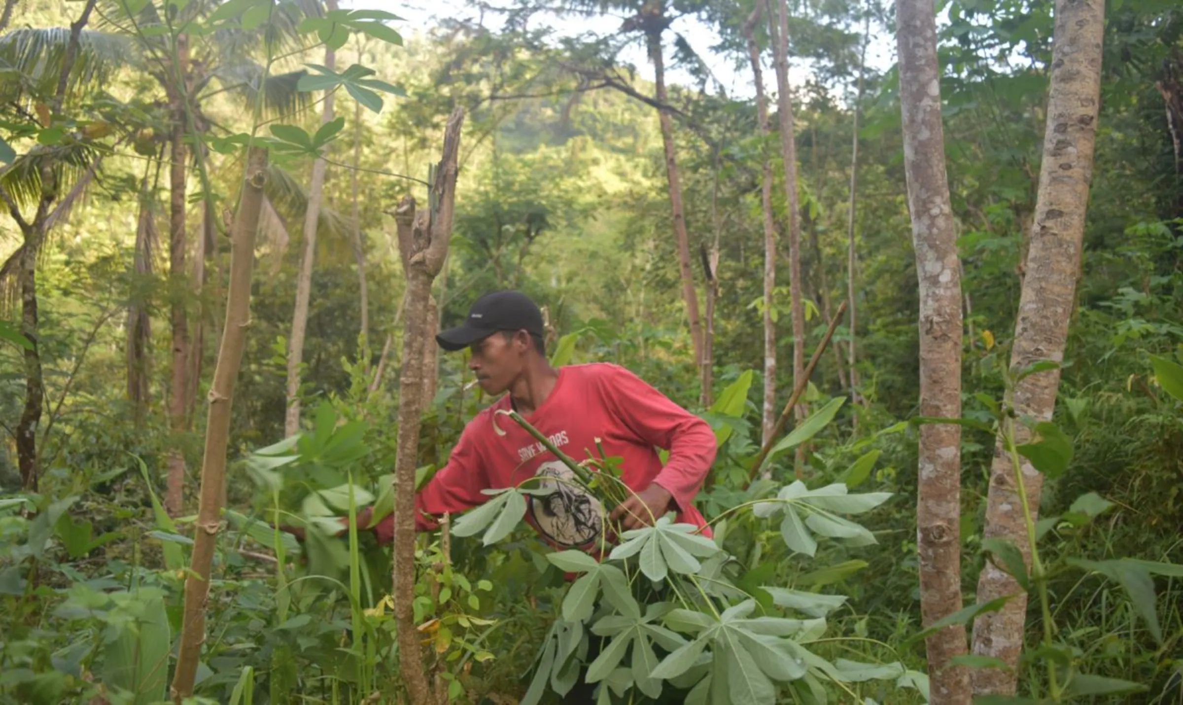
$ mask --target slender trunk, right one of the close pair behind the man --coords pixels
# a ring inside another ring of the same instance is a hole
[[[769,0],[770,1],[770,0]],[[776,57],[776,112],[781,121],[781,156],[784,160],[784,201],[789,216],[789,299],[793,316],[793,384],[796,387],[804,374],[806,316],[801,303],[801,213],[797,206],[797,147],[793,128],[793,95],[789,91],[789,6],[787,0],[777,0],[778,17],[772,25],[769,4],[769,28]],[[796,407],[800,423],[809,415],[808,406]],[[797,473],[801,472],[802,451],[797,447]]]

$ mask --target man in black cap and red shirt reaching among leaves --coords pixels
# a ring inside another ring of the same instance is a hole
[[[597,439],[606,455],[622,458],[621,479],[634,494],[609,517],[620,530],[652,525],[668,511],[678,522],[705,528],[693,498],[715,460],[710,426],[620,366],[552,368],[543,335],[542,312],[532,300],[497,291],[477,299],[464,324],[437,336],[445,350],[472,350],[468,368],[486,394],[508,394],[465,426],[447,464],[415,496],[416,526],[433,529],[433,517],[481,504],[489,499],[481,490],[534,476],[570,476],[524,428],[496,414],[513,409],[576,460],[595,452]],[[664,466],[659,447],[670,452]],[[556,491],[529,498],[526,522],[558,550],[592,552],[605,529],[600,502],[574,483],[548,484]],[[369,510],[358,524],[369,524]],[[388,516],[373,528],[380,542],[392,541],[393,525]]]

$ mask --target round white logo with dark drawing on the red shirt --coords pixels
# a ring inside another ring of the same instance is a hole
[[[574,479],[575,473],[560,460],[538,466],[538,489],[554,492],[530,496],[528,509],[538,531],[563,548],[590,543],[603,526],[603,505]],[[555,479],[550,479],[555,478]]]

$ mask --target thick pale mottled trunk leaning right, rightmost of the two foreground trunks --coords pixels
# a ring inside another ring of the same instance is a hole
[[[1104,25],[1103,0],[1056,0],[1043,161],[1010,350],[1011,370],[1040,360],[1064,360],[1093,173]],[[1029,375],[1015,384],[1009,406],[1019,418],[1048,421],[1059,383],[1059,369]],[[1015,425],[1015,435],[1016,444],[1030,438],[1021,423]],[[1034,522],[1039,518],[1043,476],[1027,461],[1021,470]],[[1015,468],[998,439],[990,466],[984,535],[1009,539],[1030,565],[1026,519],[1016,487]],[[978,578],[977,600],[987,602],[1003,595],[1017,596],[1001,610],[975,621],[974,653],[1001,659],[1014,670],[1022,651],[1027,595],[1014,578],[987,562]],[[982,668],[972,678],[975,693],[1015,692],[1015,671]]]

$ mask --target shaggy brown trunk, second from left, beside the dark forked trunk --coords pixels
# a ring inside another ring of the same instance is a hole
[[[151,277],[153,251],[156,247],[156,194],[148,187],[148,173],[144,172],[143,187],[140,193],[140,219],[136,225],[136,245],[131,272],[135,277],[131,291],[131,304],[128,306],[127,323],[127,375],[128,401],[131,402],[135,422],[143,422],[144,412],[151,394],[149,360],[151,351],[151,316],[148,315],[143,297],[144,283]]]

